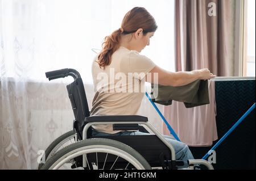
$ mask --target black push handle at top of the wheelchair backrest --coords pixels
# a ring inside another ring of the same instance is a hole
[[[57,78],[64,78],[68,75],[71,75],[74,79],[81,78],[79,72],[75,69],[59,69],[46,72],[46,78],[48,78],[49,81]]]

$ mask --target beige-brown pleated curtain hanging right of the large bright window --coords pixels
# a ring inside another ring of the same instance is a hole
[[[176,71],[241,75],[242,0],[176,0]],[[216,12],[216,13],[215,13]]]

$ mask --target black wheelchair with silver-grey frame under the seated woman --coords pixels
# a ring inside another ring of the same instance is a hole
[[[184,165],[175,159],[173,146],[164,139],[147,117],[139,115],[90,116],[90,111],[79,72],[75,69],[49,71],[52,79],[72,76],[74,81],[67,85],[68,96],[75,116],[73,130],[61,135],[45,151],[45,163],[38,169],[81,169],[81,170],[177,170]],[[139,130],[154,133],[138,136],[92,136],[92,125],[112,124],[114,131]],[[188,161],[188,169],[204,165],[213,166],[203,159]]]

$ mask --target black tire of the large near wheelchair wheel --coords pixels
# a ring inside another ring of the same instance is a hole
[[[57,163],[67,158],[69,155],[77,153],[78,150],[86,150],[86,149],[92,149],[92,148],[93,149],[106,148],[106,149],[109,149],[110,151],[114,150],[116,153],[118,151],[120,151],[118,153],[123,152],[125,155],[129,155],[130,161],[135,161],[139,163],[142,169],[151,170],[151,166],[148,164],[146,159],[144,159],[144,157],[142,157],[142,155],[138,153],[138,151],[134,150],[133,148],[131,148],[126,144],[123,144],[122,142],[110,140],[106,138],[91,138],[88,140],[82,140],[82,141],[76,142],[75,144],[69,145],[63,148],[62,150],[58,151],[51,158],[49,158],[48,161],[41,167],[41,169],[42,170],[52,169],[51,167],[54,167]]]

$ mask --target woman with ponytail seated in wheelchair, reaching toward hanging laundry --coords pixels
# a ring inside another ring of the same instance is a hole
[[[159,68],[149,58],[139,54],[142,49],[150,45],[150,38],[154,36],[156,29],[155,19],[146,9],[134,7],[123,18],[121,28],[105,38],[97,61],[94,61],[92,66],[96,94],[91,115],[137,115],[145,94],[142,91],[144,83],[151,82],[151,79],[154,79],[154,73],[158,74],[158,83],[166,86],[182,86],[197,79],[215,77],[208,69],[172,73]],[[131,77],[131,74],[135,76]],[[109,80],[109,77],[112,79]],[[122,78],[121,82],[118,81],[118,77]],[[130,79],[133,81],[129,81]],[[137,85],[133,83],[136,81]],[[120,86],[122,89],[119,89]],[[92,134],[105,136],[147,133],[113,131],[112,125],[105,124],[94,125]],[[174,146],[176,159],[183,160],[187,166],[187,160],[193,159],[188,146],[170,136],[164,137]]]

